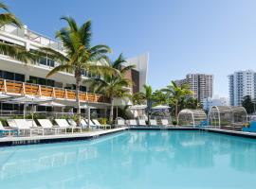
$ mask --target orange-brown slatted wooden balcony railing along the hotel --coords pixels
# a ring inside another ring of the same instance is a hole
[[[0,78],[0,92],[14,95],[36,95],[52,97],[54,99],[75,100],[76,93],[74,90],[63,88],[49,87],[26,82],[13,81]],[[80,100],[90,103],[109,103],[109,99],[102,94],[92,94],[80,92]]]

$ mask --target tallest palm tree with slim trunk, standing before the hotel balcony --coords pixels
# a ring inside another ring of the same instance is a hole
[[[59,71],[74,73],[76,79],[78,124],[80,124],[81,106],[79,92],[82,81],[82,71],[112,73],[113,69],[107,65],[107,61],[103,61],[106,59],[105,54],[111,52],[111,49],[103,44],[91,45],[92,32],[90,20],[85,22],[82,26],[78,26],[71,17],[62,17],[61,19],[67,22],[67,26],[57,31],[56,38],[63,43],[65,54],[47,47],[41,48],[41,53],[46,53],[50,59],[60,62],[60,65],[54,67],[46,77],[50,77]]]

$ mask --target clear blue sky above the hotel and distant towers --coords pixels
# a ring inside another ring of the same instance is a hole
[[[6,0],[30,29],[54,37],[59,18],[93,23],[93,43],[115,58],[150,53],[155,89],[188,73],[214,75],[214,94],[229,95],[228,75],[255,70],[254,0]]]

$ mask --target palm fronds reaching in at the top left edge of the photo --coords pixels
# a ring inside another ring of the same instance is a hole
[[[0,9],[2,10],[2,13],[0,13],[0,27],[5,25],[14,25],[18,28],[22,27],[22,23],[9,11],[8,6],[0,3]],[[33,56],[31,51],[27,51],[24,46],[17,44],[0,42],[0,53],[25,63],[29,60],[36,60],[36,57]]]

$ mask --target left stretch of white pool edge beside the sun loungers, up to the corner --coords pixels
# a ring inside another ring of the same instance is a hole
[[[96,130],[88,132],[77,132],[73,134],[55,134],[55,135],[34,135],[21,137],[3,137],[0,138],[0,146],[19,146],[19,145],[35,145],[57,142],[68,142],[77,140],[89,140],[98,138],[102,135],[107,135],[115,132],[126,130],[127,127],[117,129]]]

